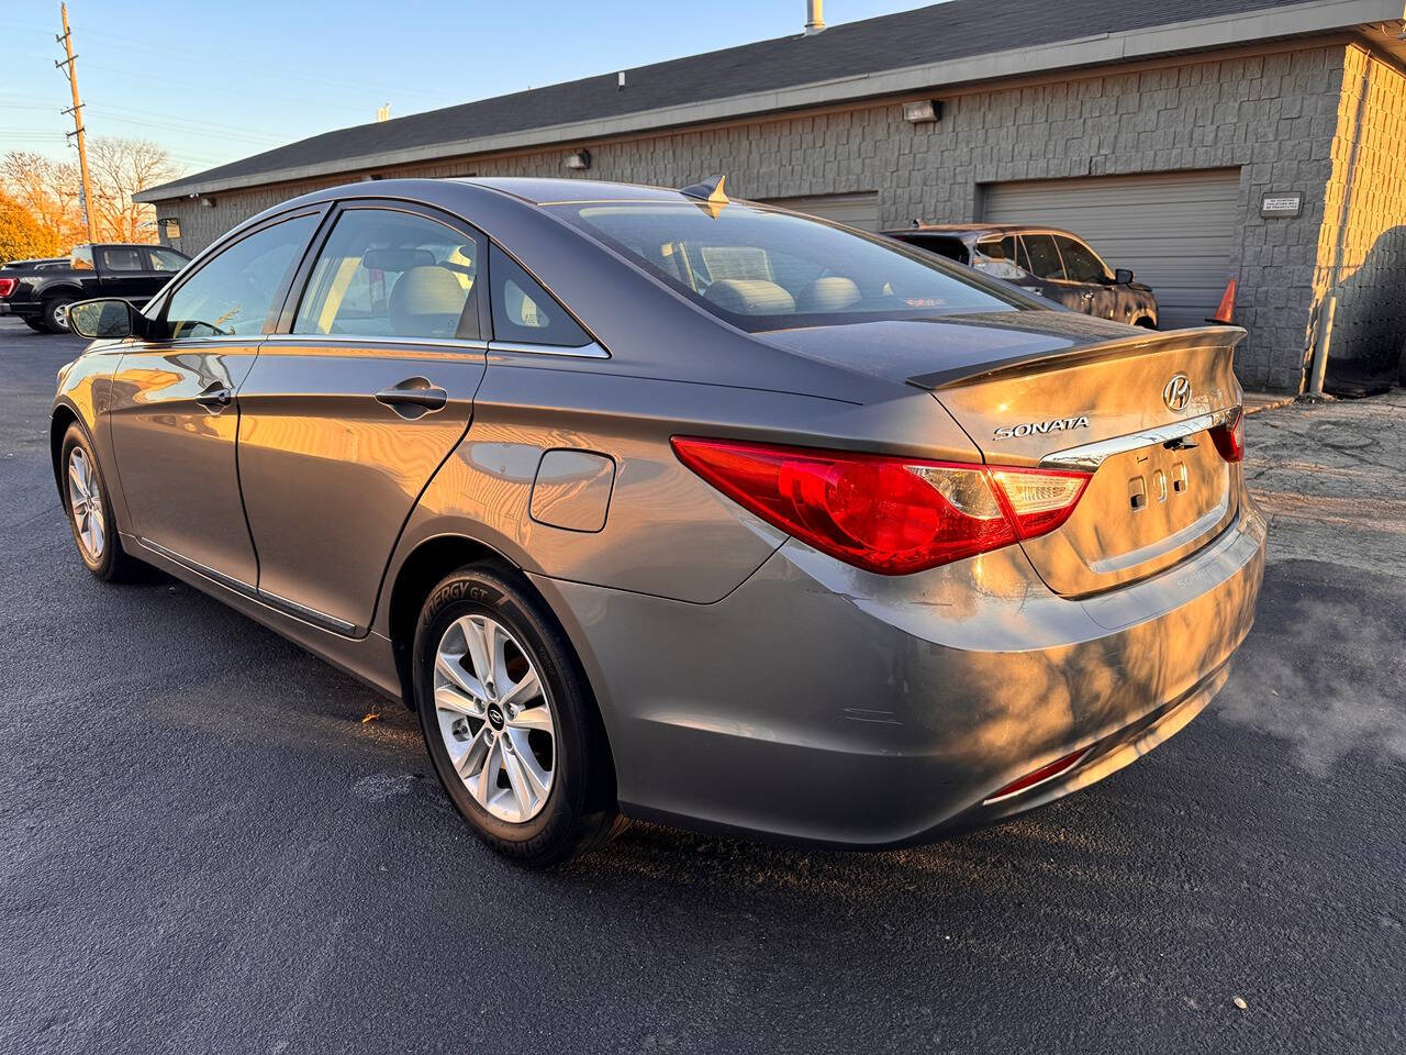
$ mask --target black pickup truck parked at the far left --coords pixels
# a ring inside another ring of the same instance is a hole
[[[121,297],[141,307],[187,263],[184,253],[159,245],[80,245],[66,267],[0,269],[0,315],[15,315],[30,329],[63,333],[73,301]]]

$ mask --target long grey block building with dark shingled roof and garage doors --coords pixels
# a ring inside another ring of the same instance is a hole
[[[1163,328],[1236,280],[1247,388],[1303,390],[1316,349],[1330,388],[1400,369],[1406,0],[952,0],[337,129],[139,198],[194,252],[354,180],[713,173],[875,231],[1071,229],[1157,291]]]

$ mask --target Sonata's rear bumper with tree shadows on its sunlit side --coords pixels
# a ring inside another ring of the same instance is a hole
[[[1042,805],[1181,729],[1250,630],[1264,539],[1241,485],[1199,553],[1081,601],[1018,547],[889,578],[794,540],[711,605],[538,584],[596,688],[627,813],[877,848]]]

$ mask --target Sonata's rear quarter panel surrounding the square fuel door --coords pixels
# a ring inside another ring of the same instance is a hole
[[[463,535],[531,574],[711,603],[761,567],[786,536],[685,468],[669,446],[672,436],[976,459],[950,418],[914,388],[891,385],[891,399],[859,405],[623,377],[600,371],[603,362],[562,367],[541,359],[491,354],[474,422],[411,516],[392,581],[422,542]],[[569,530],[530,516],[541,457],[561,449],[614,463],[600,530]]]

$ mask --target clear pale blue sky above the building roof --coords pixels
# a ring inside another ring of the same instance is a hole
[[[921,0],[828,0],[858,21]],[[0,153],[70,156],[58,0],[0,18]],[[146,138],[184,172],[330,128],[799,34],[804,0],[72,0],[90,135]]]

